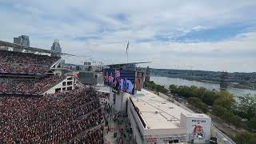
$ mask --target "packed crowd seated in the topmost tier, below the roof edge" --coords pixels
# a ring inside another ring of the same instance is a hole
[[[0,50],[0,73],[43,74],[59,57]]]

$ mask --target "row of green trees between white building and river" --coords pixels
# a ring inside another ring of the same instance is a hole
[[[234,95],[227,90],[206,90],[197,86],[170,85],[171,94],[178,94],[187,99],[190,105],[202,112],[211,112],[226,123],[247,130],[256,130],[256,95],[245,94],[235,101]]]

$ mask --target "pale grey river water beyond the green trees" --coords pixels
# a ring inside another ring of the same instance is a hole
[[[158,85],[165,86],[166,88],[168,88],[170,85],[177,85],[198,87],[202,86],[207,90],[220,90],[219,84],[216,83],[190,81],[182,78],[150,77],[150,81],[154,81]],[[238,89],[234,87],[228,87],[227,90],[236,96],[242,96],[243,94],[256,94],[256,90]]]

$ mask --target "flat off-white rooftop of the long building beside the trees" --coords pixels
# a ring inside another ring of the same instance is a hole
[[[147,129],[178,129],[180,126],[181,114],[188,116],[205,115],[192,114],[181,106],[161,98],[150,91],[137,91],[134,97],[131,97],[134,105],[138,107]]]

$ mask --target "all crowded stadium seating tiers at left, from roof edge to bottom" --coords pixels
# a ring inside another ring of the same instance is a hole
[[[0,143],[102,143],[96,91],[62,69],[63,53],[0,42]]]

